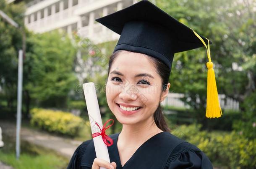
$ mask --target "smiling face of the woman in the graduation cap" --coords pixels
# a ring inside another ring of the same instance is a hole
[[[110,69],[106,85],[107,103],[121,124],[153,120],[153,114],[162,101],[161,88],[161,78],[148,56],[123,51],[118,53]]]

